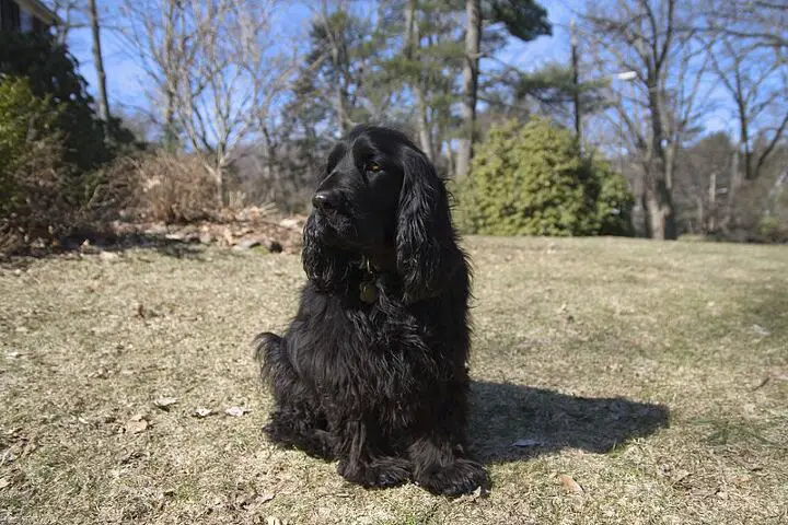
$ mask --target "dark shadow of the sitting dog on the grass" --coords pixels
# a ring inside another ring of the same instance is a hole
[[[592,398],[543,388],[473,382],[468,428],[473,454],[506,463],[580,448],[604,454],[669,425],[662,405]]]

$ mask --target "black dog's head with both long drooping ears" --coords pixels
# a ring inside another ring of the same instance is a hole
[[[440,293],[462,254],[443,182],[403,133],[359,126],[328,155],[304,228],[303,264],[321,289],[340,290],[368,258],[399,275],[404,300]]]

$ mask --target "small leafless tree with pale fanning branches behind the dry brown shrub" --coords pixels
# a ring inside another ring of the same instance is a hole
[[[158,4],[158,5],[154,5]],[[163,98],[163,130],[202,155],[223,202],[233,149],[257,136],[292,72],[275,46],[274,2],[127,0],[128,39]]]

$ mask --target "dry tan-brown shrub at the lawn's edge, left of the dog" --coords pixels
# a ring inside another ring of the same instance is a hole
[[[115,180],[134,188],[125,206],[129,219],[186,223],[216,215],[216,182],[196,156],[166,152],[118,160]]]

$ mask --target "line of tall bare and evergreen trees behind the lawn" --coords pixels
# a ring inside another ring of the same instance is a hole
[[[331,140],[358,122],[409,131],[462,180],[490,129],[538,116],[626,176],[645,235],[744,238],[788,222],[784,2],[589,1],[571,13],[573,60],[526,70],[501,58],[507,45],[528,54],[565,28],[532,0],[53,8],[59,42],[91,30],[101,118],[119,117],[151,148],[198,155],[223,203],[302,210]],[[305,30],[288,20],[293,9]],[[107,93],[108,33],[142,71],[142,108]]]

